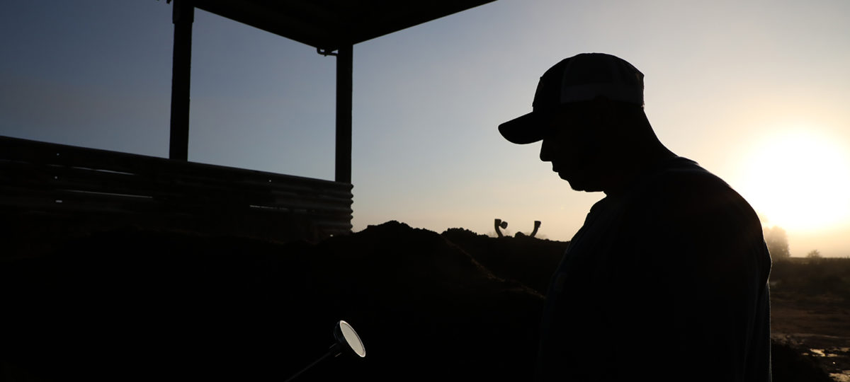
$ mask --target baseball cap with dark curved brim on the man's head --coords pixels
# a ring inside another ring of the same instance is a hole
[[[542,122],[563,104],[605,97],[643,106],[643,73],[625,59],[581,53],[546,70],[537,82],[532,111],[499,125],[512,143],[534,143],[546,135]]]

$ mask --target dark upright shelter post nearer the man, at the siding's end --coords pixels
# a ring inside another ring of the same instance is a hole
[[[354,47],[337,49],[337,172],[335,180],[351,183],[351,88]]]

